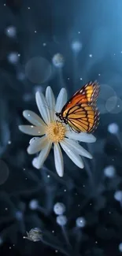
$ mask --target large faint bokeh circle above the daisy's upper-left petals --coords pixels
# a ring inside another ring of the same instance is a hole
[[[25,75],[32,83],[45,83],[51,74],[52,67],[46,58],[34,57],[25,65]]]

